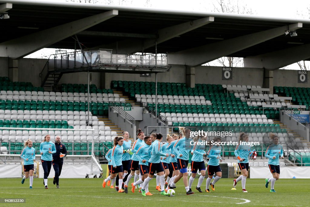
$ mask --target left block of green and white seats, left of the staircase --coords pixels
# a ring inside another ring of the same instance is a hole
[[[8,77],[0,77],[0,127],[33,128],[33,130],[2,130],[0,131],[1,151],[20,154],[23,142],[29,137],[38,148],[42,137],[46,134],[61,135],[68,146],[69,154],[90,154],[91,133],[89,131],[52,131],[49,128],[61,129],[99,129],[100,145],[96,146],[95,154],[104,155],[112,148],[112,137],[117,136],[109,126],[105,126],[97,115],[104,115],[108,106],[131,106],[124,98],[111,89],[98,89],[91,85],[89,100],[90,114],[87,126],[87,85],[62,84],[62,92],[47,92],[43,88],[33,87],[29,82],[10,82]],[[86,89],[85,89],[86,88]],[[45,131],[35,128],[46,128]],[[73,142],[75,143],[73,146]],[[76,143],[81,142],[81,143]]]

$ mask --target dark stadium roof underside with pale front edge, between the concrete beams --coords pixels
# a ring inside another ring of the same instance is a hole
[[[234,51],[227,56],[257,56],[310,43],[310,20],[304,19],[172,11],[72,2],[0,0],[0,5],[2,3],[12,3],[12,9],[7,11],[10,19],[0,20],[1,43],[110,10],[118,10],[118,15],[77,34],[79,41],[85,47],[95,48],[110,44],[116,45],[116,42],[122,41],[155,39],[160,29],[209,16],[214,17],[214,21],[159,43],[157,53],[179,52],[273,28],[288,27],[294,23],[303,23],[302,28],[296,31],[298,34],[296,37],[285,36],[285,30],[283,30],[283,35]],[[73,49],[74,42],[75,40],[72,37],[68,37],[47,47]],[[155,52],[155,46],[145,48],[144,52]]]

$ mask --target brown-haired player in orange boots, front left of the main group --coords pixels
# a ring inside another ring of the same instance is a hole
[[[121,178],[119,179],[119,182],[123,182],[123,166],[122,166],[122,156],[124,153],[123,148],[124,138],[123,137],[115,137],[114,138],[114,147],[111,153],[111,175],[106,178],[102,184],[103,187],[105,187],[106,182],[109,180],[112,180],[116,177],[116,174],[118,173],[118,176]],[[119,193],[125,192],[122,188],[118,190]]]

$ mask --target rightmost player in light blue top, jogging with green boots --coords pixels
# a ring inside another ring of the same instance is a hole
[[[274,190],[274,183],[276,180],[280,178],[280,164],[279,164],[279,158],[284,159],[283,157],[283,147],[279,144],[279,137],[274,133],[269,133],[269,139],[273,142],[270,146],[268,146],[265,157],[268,159],[268,166],[270,169],[270,172],[272,174],[272,178],[266,178],[265,179],[265,187],[268,188],[269,182],[271,182],[271,188],[270,192],[276,192]]]

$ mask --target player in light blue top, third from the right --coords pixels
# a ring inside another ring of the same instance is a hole
[[[221,141],[222,141],[222,139],[220,137],[215,137],[213,139],[213,143],[221,142]],[[222,162],[221,150],[222,150],[222,147],[219,146],[219,144],[218,145],[212,145],[209,148],[208,156],[207,156],[209,158],[209,161],[208,161],[208,167],[207,167],[208,178],[206,181],[206,192],[210,192],[209,185],[211,186],[212,191],[215,191],[215,188],[214,188],[215,183],[218,182],[219,179],[222,178],[222,170],[219,166],[219,162]],[[210,183],[212,178],[213,178],[214,173],[216,176],[215,176],[213,182]]]

